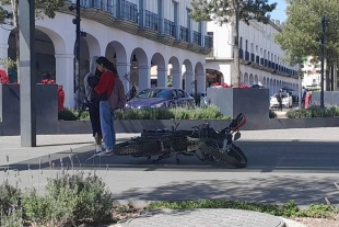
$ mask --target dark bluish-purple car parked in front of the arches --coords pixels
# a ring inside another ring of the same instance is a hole
[[[195,99],[182,89],[149,88],[139,92],[137,97],[127,102],[126,107],[191,107]]]

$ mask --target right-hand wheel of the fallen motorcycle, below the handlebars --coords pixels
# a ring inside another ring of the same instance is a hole
[[[241,148],[234,145],[229,152],[223,152],[218,140],[204,139],[200,144],[200,149],[203,152],[212,155],[215,161],[226,162],[236,168],[244,168],[247,166],[246,156]]]

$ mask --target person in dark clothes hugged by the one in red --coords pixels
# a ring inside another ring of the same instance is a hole
[[[94,56],[90,59],[90,72],[84,78],[84,87],[86,95],[86,106],[89,107],[93,137],[96,144],[96,152],[101,152],[103,134],[100,120],[100,99],[93,89],[98,84],[102,75],[102,72],[96,69],[97,58],[97,56]]]

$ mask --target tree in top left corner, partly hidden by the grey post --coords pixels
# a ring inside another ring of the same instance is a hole
[[[3,24],[12,25],[15,32],[15,42],[16,42],[16,70],[17,70],[17,80],[20,80],[19,71],[19,56],[20,56],[20,42],[19,42],[19,0],[0,0],[0,24],[1,27]],[[56,16],[56,11],[63,7],[63,0],[35,0],[35,16],[37,20],[48,16],[54,19]],[[3,29],[3,27],[2,27]]]

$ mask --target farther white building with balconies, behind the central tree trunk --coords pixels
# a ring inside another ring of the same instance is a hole
[[[297,94],[299,67],[288,66],[281,60],[284,53],[273,41],[273,35],[279,32],[279,21],[239,23],[241,82],[264,86],[270,90],[270,95],[281,88],[293,89]],[[208,34],[213,37],[213,52],[207,57],[207,86],[215,81],[237,83],[231,81],[234,71],[232,25],[209,22]]]

